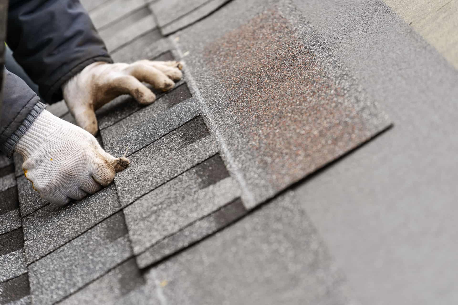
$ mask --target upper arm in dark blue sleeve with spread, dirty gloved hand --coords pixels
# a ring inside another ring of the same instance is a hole
[[[94,111],[114,97],[131,94],[143,105],[181,78],[179,62],[112,60],[78,0],[10,0],[7,43],[16,61],[38,84],[45,102],[65,97],[79,126],[96,134]]]

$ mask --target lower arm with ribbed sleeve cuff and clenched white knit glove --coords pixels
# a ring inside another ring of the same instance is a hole
[[[22,169],[40,195],[53,203],[78,200],[107,186],[129,165],[105,152],[92,134],[50,112],[27,84],[6,71],[0,149],[22,155]],[[11,120],[12,118],[12,120]]]

